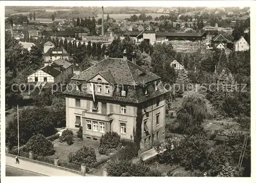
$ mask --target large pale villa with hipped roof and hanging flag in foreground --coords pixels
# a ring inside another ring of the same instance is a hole
[[[82,126],[83,136],[92,139],[116,132],[121,139],[133,141],[139,131],[141,153],[165,139],[166,92],[159,76],[127,56],[106,58],[72,77],[63,92],[66,127],[78,130]],[[142,119],[137,118],[139,113]]]

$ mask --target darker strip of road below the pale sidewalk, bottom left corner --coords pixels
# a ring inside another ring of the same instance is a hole
[[[46,176],[39,173],[35,173],[35,172],[31,172],[31,171],[27,171],[27,170],[15,168],[15,167],[10,167],[8,165],[5,168],[5,173],[6,173],[6,176]]]

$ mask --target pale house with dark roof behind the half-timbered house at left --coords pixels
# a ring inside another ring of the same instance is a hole
[[[58,59],[68,59],[69,60],[69,54],[64,48],[49,48],[47,53],[44,55],[45,59],[45,65],[48,65],[54,60]]]

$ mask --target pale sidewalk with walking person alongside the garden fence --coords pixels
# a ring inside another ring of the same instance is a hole
[[[51,168],[51,167],[44,166],[44,165],[39,165],[36,163],[21,160],[21,159],[19,159],[19,164],[15,164],[14,158],[9,157],[9,156],[5,156],[5,157],[6,157],[6,165],[8,165],[8,166],[12,166],[12,167],[16,167],[16,168],[20,168],[20,169],[24,169],[24,170],[29,170],[29,171],[44,174],[47,176],[81,176],[81,175],[71,173],[68,171],[59,170],[59,169]]]

